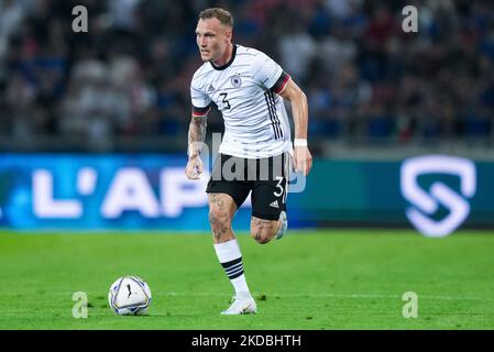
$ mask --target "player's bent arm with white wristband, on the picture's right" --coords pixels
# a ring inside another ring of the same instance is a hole
[[[292,103],[292,114],[295,124],[294,167],[307,176],[312,168],[312,155],[307,146],[309,120],[307,96],[292,78],[288,78],[285,87],[282,88],[278,95]]]

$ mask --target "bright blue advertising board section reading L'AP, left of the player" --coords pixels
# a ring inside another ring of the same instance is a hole
[[[183,156],[3,155],[0,223],[14,229],[208,230],[208,173]],[[239,218],[250,219],[249,208]]]

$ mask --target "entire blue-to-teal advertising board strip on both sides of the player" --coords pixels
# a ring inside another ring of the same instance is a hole
[[[210,173],[188,180],[184,155],[4,154],[0,226],[21,230],[209,231]],[[494,228],[494,163],[448,155],[316,160],[288,187],[290,228],[406,226],[429,237]],[[250,198],[233,229],[249,230]]]

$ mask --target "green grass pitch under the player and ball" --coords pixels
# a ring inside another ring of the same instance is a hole
[[[255,316],[220,316],[232,287],[205,234],[0,232],[0,329],[494,329],[494,235],[461,231],[290,232],[267,245],[239,235]],[[149,315],[118,317],[110,284],[138,275]],[[88,319],[75,319],[86,292]],[[406,292],[418,318],[405,319]]]

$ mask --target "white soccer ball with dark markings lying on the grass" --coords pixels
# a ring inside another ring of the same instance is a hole
[[[123,276],[111,284],[108,301],[119,316],[142,316],[150,308],[151,289],[138,276]]]

